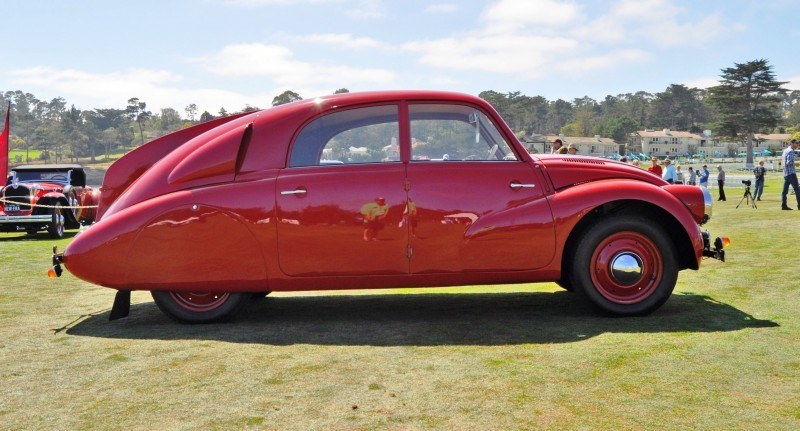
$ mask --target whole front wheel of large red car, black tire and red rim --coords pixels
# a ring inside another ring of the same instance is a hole
[[[568,278],[576,293],[602,311],[646,315],[661,307],[675,288],[675,245],[654,220],[609,216],[578,241]]]

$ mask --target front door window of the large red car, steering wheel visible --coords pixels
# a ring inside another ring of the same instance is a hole
[[[412,160],[517,160],[483,112],[463,105],[409,106]]]

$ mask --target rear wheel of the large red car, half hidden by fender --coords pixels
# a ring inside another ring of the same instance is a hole
[[[247,304],[249,293],[152,291],[158,308],[183,323],[213,323],[232,319]]]

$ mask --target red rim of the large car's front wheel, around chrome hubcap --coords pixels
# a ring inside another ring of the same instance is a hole
[[[613,265],[619,257],[637,261],[640,274],[620,280]],[[617,304],[635,304],[655,292],[664,275],[661,252],[655,243],[638,232],[617,232],[608,236],[592,254],[592,283],[604,298]]]

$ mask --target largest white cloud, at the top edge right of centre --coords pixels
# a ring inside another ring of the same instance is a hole
[[[484,10],[481,28],[403,48],[430,67],[530,79],[647,63],[662,48],[696,46],[744,28],[718,13],[686,18],[675,0],[599,7],[606,13],[592,15],[589,6],[569,0],[500,0]]]

